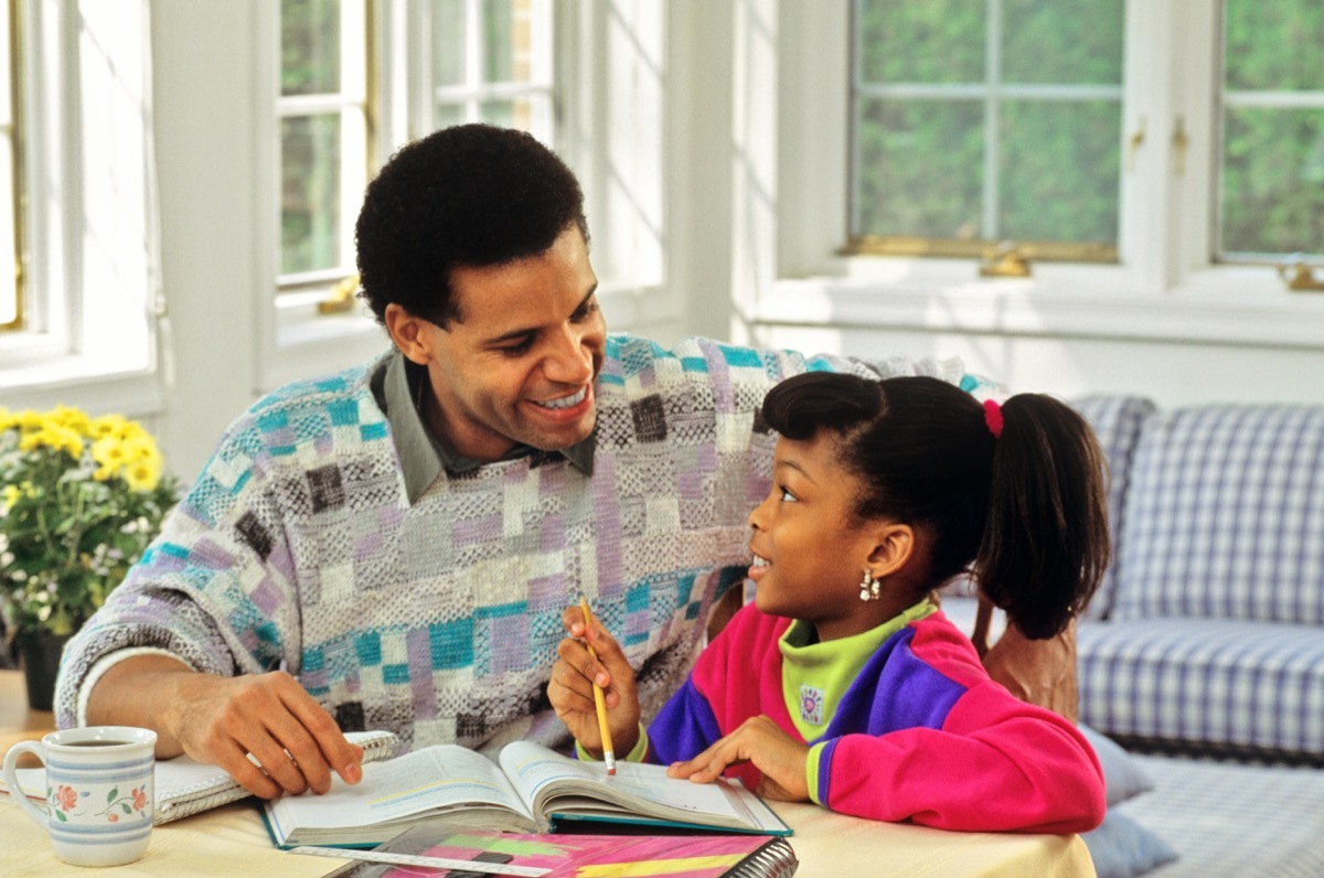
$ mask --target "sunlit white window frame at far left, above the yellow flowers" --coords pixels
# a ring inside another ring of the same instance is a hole
[[[146,0],[17,8],[19,38],[30,48],[17,90],[26,297],[24,327],[0,334],[4,404],[44,407],[58,395],[94,412],[151,416],[163,400],[166,314],[150,9]]]

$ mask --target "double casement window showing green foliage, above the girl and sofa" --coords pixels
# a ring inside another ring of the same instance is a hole
[[[1324,254],[1315,0],[857,0],[851,32],[853,252]]]

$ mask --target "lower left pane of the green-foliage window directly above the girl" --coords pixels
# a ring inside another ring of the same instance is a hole
[[[982,105],[866,101],[861,115],[854,233],[978,237]]]

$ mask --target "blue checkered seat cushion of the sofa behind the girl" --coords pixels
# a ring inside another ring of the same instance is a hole
[[[1080,722],[1110,735],[1324,755],[1324,634],[1213,618],[1082,622]]]

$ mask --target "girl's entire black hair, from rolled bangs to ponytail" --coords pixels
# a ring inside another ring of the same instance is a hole
[[[781,436],[837,437],[838,462],[865,486],[858,519],[931,539],[929,587],[973,571],[1026,637],[1055,636],[1090,603],[1108,565],[1106,463],[1064,403],[1018,393],[994,437],[984,405],[933,377],[806,372],[773,387],[763,418]]]

